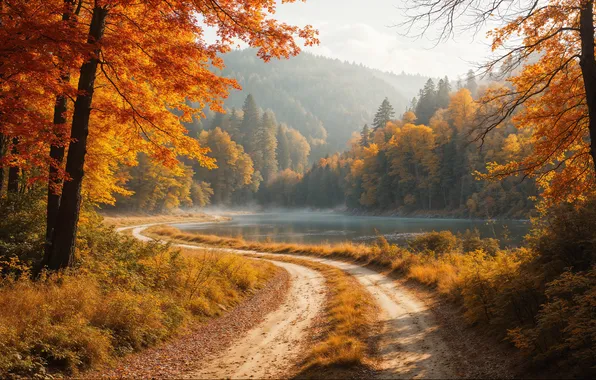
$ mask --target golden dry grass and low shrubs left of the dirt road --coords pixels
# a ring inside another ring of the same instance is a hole
[[[0,377],[76,375],[221,314],[279,270],[239,255],[105,239],[79,252],[79,268],[39,280],[17,262],[0,266],[21,273],[0,279]]]

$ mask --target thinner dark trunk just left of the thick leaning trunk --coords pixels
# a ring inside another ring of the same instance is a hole
[[[64,13],[62,14],[62,21],[68,23],[73,15],[74,0],[64,0]],[[62,83],[70,81],[70,73],[64,71],[60,76]],[[46,244],[44,254],[44,265],[47,265],[47,260],[52,252],[52,237],[54,235],[54,226],[56,225],[56,217],[58,216],[58,209],[60,208],[60,186],[62,186],[62,177],[59,175],[59,168],[62,167],[64,161],[64,135],[62,134],[61,126],[66,124],[66,111],[68,106],[68,98],[64,94],[56,96],[56,103],[54,104],[54,126],[57,126],[55,141],[50,146],[50,169],[48,173],[48,205],[46,212]]]

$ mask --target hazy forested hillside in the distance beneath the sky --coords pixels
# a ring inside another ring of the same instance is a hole
[[[428,79],[420,75],[392,74],[362,65],[303,52],[288,60],[263,63],[254,50],[233,51],[224,57],[223,74],[236,78],[242,91],[233,91],[226,108],[241,108],[253,94],[264,109],[272,109],[279,122],[321,140],[321,153],[343,150],[352,132],[371,123],[385,97],[396,112],[403,112]]]

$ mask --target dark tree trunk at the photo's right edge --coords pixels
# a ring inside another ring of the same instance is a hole
[[[580,67],[586,90],[590,130],[590,152],[596,168],[596,60],[594,57],[594,2],[588,1],[579,14],[579,34],[582,52]]]

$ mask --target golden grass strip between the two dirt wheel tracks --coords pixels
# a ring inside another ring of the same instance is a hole
[[[341,370],[369,368],[374,352],[370,336],[378,308],[366,289],[353,276],[329,265],[283,256],[274,259],[319,271],[329,292],[323,337],[310,350],[297,377],[338,376]]]

